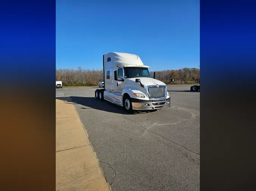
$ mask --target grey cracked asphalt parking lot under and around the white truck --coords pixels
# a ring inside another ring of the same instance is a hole
[[[199,190],[200,92],[168,86],[170,108],[127,114],[96,100],[96,89],[56,89],[56,96],[71,97],[113,191]]]

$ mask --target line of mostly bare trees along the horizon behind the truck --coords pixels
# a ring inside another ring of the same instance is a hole
[[[154,71],[151,71],[150,75],[153,78]],[[198,83],[198,76],[198,68],[155,71],[155,79],[166,84]],[[174,82],[171,79],[174,79]],[[56,69],[56,81],[62,81],[63,86],[97,86],[99,82],[103,82],[103,69]]]

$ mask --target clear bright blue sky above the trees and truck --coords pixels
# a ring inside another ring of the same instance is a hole
[[[90,2],[56,0],[57,69],[101,69],[108,52],[137,54],[151,71],[199,65],[199,0]]]

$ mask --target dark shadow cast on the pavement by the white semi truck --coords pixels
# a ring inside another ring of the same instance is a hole
[[[70,102],[70,98],[72,102]],[[85,107],[80,107],[81,109],[97,109],[101,111],[107,111],[112,113],[118,113],[118,114],[127,114],[127,115],[134,115],[134,114],[143,114],[143,113],[149,113],[149,112],[155,112],[157,110],[151,110],[151,111],[135,111],[132,114],[129,114],[124,110],[123,107],[118,106],[116,104],[110,103],[108,101],[100,101],[97,100],[95,97],[79,97],[79,96],[69,96],[69,97],[56,97],[58,100],[62,100],[64,102],[69,102],[67,104],[79,104]]]

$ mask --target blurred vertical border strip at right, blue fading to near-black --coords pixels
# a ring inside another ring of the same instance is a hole
[[[255,188],[255,18],[253,1],[200,2],[200,190]]]

